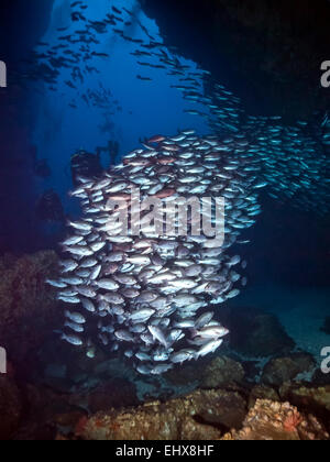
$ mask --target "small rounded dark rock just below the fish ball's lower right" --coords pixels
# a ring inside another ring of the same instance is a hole
[[[245,372],[243,366],[230,358],[217,358],[204,371],[202,388],[220,388],[229,384],[241,384]]]

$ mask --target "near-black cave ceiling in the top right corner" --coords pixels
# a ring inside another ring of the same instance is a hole
[[[248,112],[311,117],[327,108],[320,65],[328,55],[327,0],[143,0],[167,45],[245,101]],[[206,51],[209,50],[209,53]],[[246,92],[249,88],[249,92]]]

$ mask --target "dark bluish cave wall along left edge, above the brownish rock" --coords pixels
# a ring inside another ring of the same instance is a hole
[[[35,251],[33,227],[35,180],[31,142],[37,100],[29,101],[28,85],[12,85],[21,59],[41,40],[51,20],[53,0],[4,0],[0,16],[0,59],[8,68],[8,88],[1,89],[0,106],[0,252]],[[28,121],[28,123],[26,123]],[[24,233],[21,230],[24,229]],[[29,243],[29,244],[28,244]],[[31,249],[32,245],[33,249]]]

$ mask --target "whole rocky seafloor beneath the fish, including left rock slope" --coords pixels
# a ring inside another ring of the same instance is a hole
[[[0,260],[1,440],[328,440],[330,377],[267,312],[221,307],[211,358],[141,377],[121,356],[59,341],[54,252]],[[244,334],[249,331],[249,336]]]

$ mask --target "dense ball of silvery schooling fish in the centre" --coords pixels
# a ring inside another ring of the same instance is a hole
[[[266,185],[241,145],[241,135],[158,135],[101,178],[79,178],[72,195],[84,219],[69,222],[63,277],[48,282],[72,307],[64,340],[122,346],[145,375],[220,348],[229,331],[208,307],[246,284],[238,270],[246,262],[228,251],[249,242],[240,234],[255,223]]]

